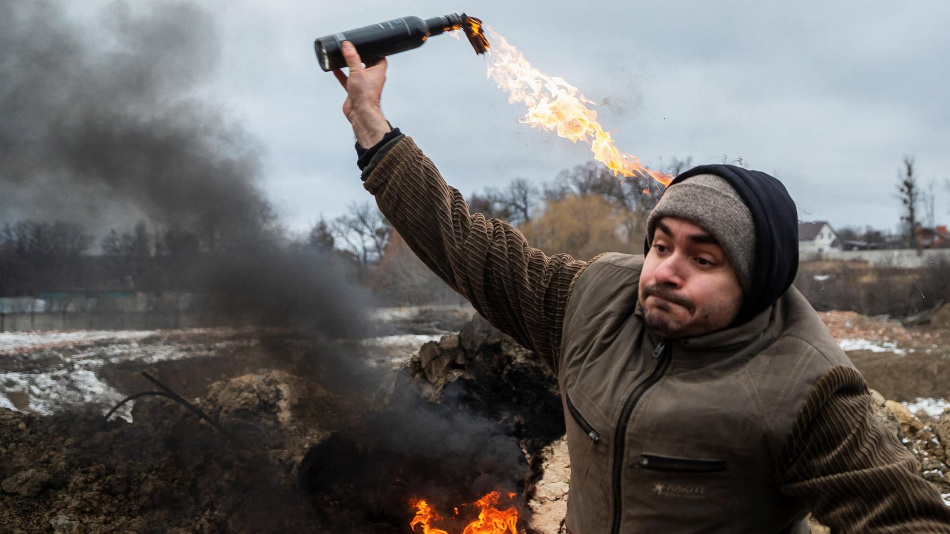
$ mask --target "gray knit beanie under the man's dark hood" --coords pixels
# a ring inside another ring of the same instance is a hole
[[[689,220],[719,241],[746,295],[755,260],[755,223],[735,189],[718,176],[700,174],[674,183],[647,218],[647,243],[653,244],[656,221],[664,217]]]

